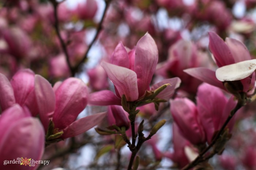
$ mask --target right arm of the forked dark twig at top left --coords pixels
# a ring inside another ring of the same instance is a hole
[[[104,20],[104,18],[105,18],[105,15],[106,15],[106,12],[107,12],[107,10],[108,10],[108,7],[109,7],[109,4],[110,4],[111,0],[105,0],[105,2],[106,2],[106,6],[105,6],[105,9],[104,9],[103,15],[102,15],[102,17],[101,17],[101,21],[100,21],[99,24],[98,24],[98,28],[97,28],[96,34],[95,34],[93,40],[91,41],[91,43],[89,44],[89,46],[88,46],[88,48],[87,48],[87,51],[85,52],[85,54],[84,54],[82,60],[81,60],[80,62],[78,62],[78,63],[74,66],[73,70],[74,70],[75,72],[78,71],[78,69],[79,69],[79,67],[81,66],[81,64],[84,63],[84,61],[87,59],[87,56],[88,56],[88,53],[89,53],[91,47],[93,46],[94,42],[97,40],[97,37],[98,37],[98,35],[99,35],[99,32],[101,32],[102,23],[103,23],[103,20]]]

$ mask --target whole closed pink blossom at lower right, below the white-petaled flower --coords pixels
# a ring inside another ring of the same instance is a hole
[[[211,143],[214,133],[221,129],[231,110],[236,106],[234,96],[227,100],[223,92],[203,83],[197,91],[195,105],[187,98],[171,100],[171,113],[181,135],[194,145]],[[234,117],[228,124],[233,129]]]

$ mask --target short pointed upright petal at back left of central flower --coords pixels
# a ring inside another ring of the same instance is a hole
[[[117,66],[129,68],[129,56],[121,42],[118,43],[112,54],[111,63]]]

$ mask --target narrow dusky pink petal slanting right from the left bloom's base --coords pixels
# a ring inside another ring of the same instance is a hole
[[[61,138],[70,138],[86,132],[101,123],[101,121],[106,117],[106,113],[107,112],[101,112],[76,120],[63,130],[64,133]]]

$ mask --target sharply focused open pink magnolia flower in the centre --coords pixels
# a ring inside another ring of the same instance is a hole
[[[146,90],[155,90],[163,84],[170,83],[158,98],[169,99],[174,89],[180,84],[179,78],[166,79],[149,88],[158,61],[158,50],[154,39],[146,33],[137,43],[135,50],[127,51],[119,43],[111,57],[111,64],[102,62],[102,67],[115,86],[116,95],[103,90],[90,95],[90,104],[121,105],[121,96],[127,101],[138,100]]]

